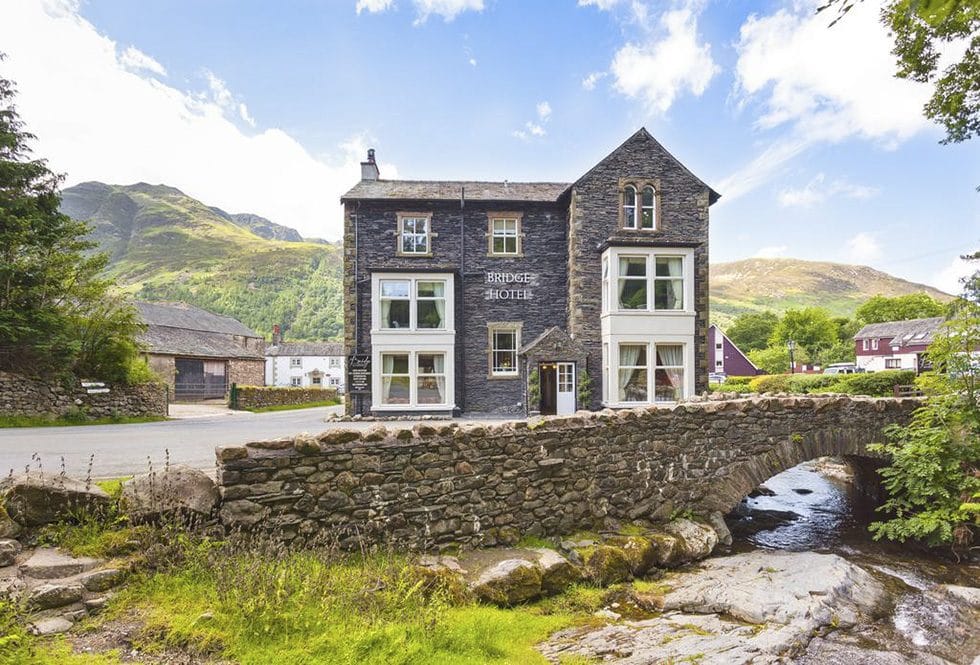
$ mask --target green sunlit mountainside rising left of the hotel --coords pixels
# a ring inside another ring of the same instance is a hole
[[[61,209],[93,225],[109,273],[145,300],[182,300],[293,339],[342,337],[339,244],[305,242],[291,228],[229,215],[164,185],[86,182]]]

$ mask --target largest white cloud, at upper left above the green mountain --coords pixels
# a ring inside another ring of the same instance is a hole
[[[11,4],[0,44],[8,55],[0,70],[17,84],[21,118],[38,136],[35,152],[67,173],[66,184],[165,183],[306,236],[340,237],[338,199],[360,175],[365,138],[315,158],[280,129],[255,131],[243,100],[217,75],[204,72],[207,88],[186,91],[152,68],[133,71],[132,55],[127,64],[126,51],[72,2]],[[67,108],[66,99],[85,102]]]

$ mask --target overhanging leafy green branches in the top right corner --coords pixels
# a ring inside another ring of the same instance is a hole
[[[836,9],[841,20],[863,0],[828,0],[818,12]],[[888,0],[881,22],[895,37],[892,53],[899,78],[932,83],[925,116],[946,130],[942,143],[980,134],[980,3],[975,0]],[[939,71],[943,47],[963,43],[963,56]]]

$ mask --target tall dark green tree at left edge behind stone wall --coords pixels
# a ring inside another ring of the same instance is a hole
[[[88,225],[58,211],[61,177],[31,158],[14,95],[0,77],[0,369],[130,378],[135,309],[110,299]]]

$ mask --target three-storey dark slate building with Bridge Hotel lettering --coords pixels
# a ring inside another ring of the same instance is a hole
[[[348,409],[566,414],[703,391],[708,208],[640,129],[573,183],[384,180],[344,204]]]

